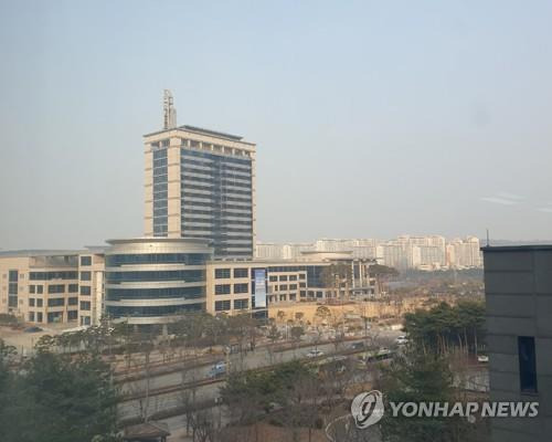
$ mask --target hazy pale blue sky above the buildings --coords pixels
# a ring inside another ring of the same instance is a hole
[[[264,241],[550,239],[550,1],[0,0],[0,248],[142,234],[142,134],[257,143]]]

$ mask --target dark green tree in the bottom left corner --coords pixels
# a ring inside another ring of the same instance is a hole
[[[4,372],[6,375],[6,372]],[[97,355],[57,355],[40,347],[0,386],[2,442],[115,440],[117,391]]]

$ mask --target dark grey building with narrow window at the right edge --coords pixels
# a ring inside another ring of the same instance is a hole
[[[537,401],[537,418],[496,418],[493,442],[552,434],[552,245],[484,248],[490,399]]]

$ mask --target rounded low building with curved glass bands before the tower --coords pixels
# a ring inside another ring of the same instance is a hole
[[[109,240],[105,253],[105,312],[129,324],[162,324],[205,308],[208,240]]]

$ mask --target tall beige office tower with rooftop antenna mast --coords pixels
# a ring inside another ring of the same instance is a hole
[[[176,125],[145,135],[147,236],[212,241],[215,259],[253,257],[255,145],[242,137]]]

